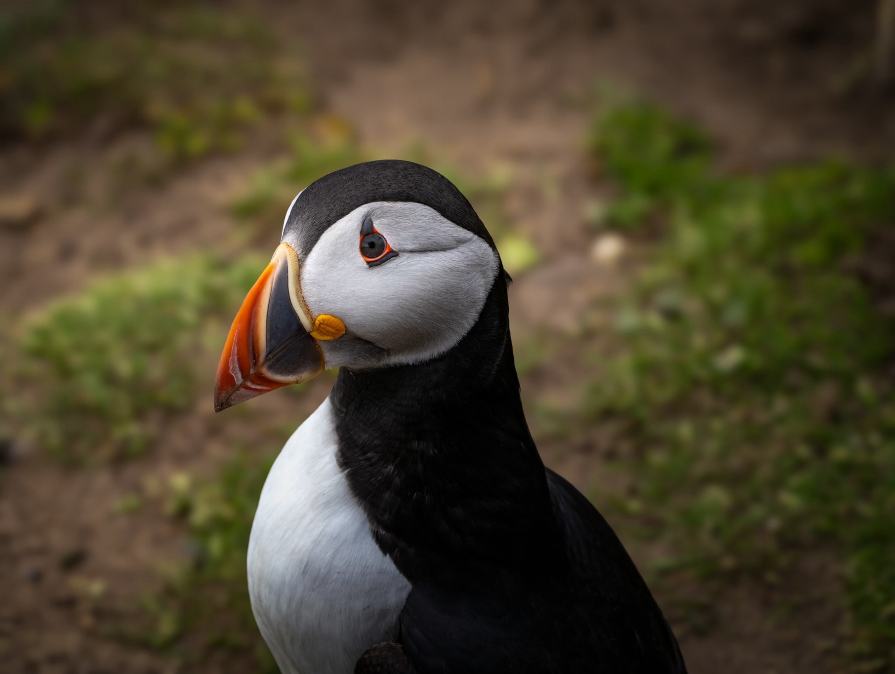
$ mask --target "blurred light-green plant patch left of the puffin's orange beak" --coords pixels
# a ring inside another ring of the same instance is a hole
[[[226,322],[263,261],[161,260],[99,280],[21,329],[25,437],[67,462],[141,454],[192,405],[203,330]]]

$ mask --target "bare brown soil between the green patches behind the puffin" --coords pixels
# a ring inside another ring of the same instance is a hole
[[[874,3],[851,5],[331,0],[325,7],[256,7],[307,46],[324,105],[350,120],[381,156],[424,141],[473,171],[512,168],[507,209],[545,260],[512,289],[518,343],[566,334],[576,316],[624,286],[643,254],[635,246],[629,250],[636,254],[607,267],[588,253],[584,205],[606,189],[589,177],[583,150],[592,109],[583,101],[595,81],[643,91],[693,116],[735,168],[830,153],[887,155],[895,145],[895,110],[864,83],[861,69]],[[129,188],[107,209],[69,207],[64,176],[72,166],[111,161],[145,141],[139,134],[110,138],[99,128],[75,141],[0,152],[0,191],[39,201],[30,226],[0,229],[0,312],[17,316],[90,277],[159,254],[220,248],[222,233],[234,228],[227,200],[276,155],[261,137],[251,151],[203,161],[161,187]],[[112,190],[90,178],[82,189],[99,200]],[[255,244],[272,250],[277,236],[272,224]],[[555,354],[525,375],[526,403],[573,404],[581,380],[574,354]],[[303,418],[307,410],[295,405],[312,408],[329,385],[316,381],[298,404],[297,397],[272,395],[226,418],[211,414],[202,399],[191,414],[166,421],[149,456],[122,465],[66,469],[38,453],[14,460],[0,482],[0,670],[177,670],[166,656],[108,638],[98,626],[126,621],[135,598],[158,585],[159,569],[183,556],[185,533],[157,509],[115,518],[111,504],[175,472],[213,474],[234,444],[251,445],[245,415],[254,417],[253,428]],[[583,489],[619,489],[636,476],[601,475],[605,444],[593,430],[546,442],[542,453]],[[652,552],[640,546],[634,553],[644,563]],[[711,594],[687,589],[711,616],[710,626],[697,630],[671,612],[690,670],[832,671],[822,647],[839,638],[830,601],[838,580],[831,565],[815,559],[793,582],[800,592],[790,587],[787,596],[803,601],[787,611],[780,597],[749,584]],[[657,594],[661,601],[661,587]],[[190,670],[245,669],[238,659],[220,658]]]

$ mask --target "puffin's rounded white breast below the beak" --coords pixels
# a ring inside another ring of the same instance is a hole
[[[363,651],[394,639],[410,592],[336,449],[327,399],[277,456],[251,527],[251,609],[283,674],[351,674]]]

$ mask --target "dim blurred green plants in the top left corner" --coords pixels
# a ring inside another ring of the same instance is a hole
[[[279,110],[306,111],[297,55],[251,15],[200,4],[88,26],[77,5],[0,13],[0,132],[40,137],[102,117],[143,126],[176,160],[235,149]]]

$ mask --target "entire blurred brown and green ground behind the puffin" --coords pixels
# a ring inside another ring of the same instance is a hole
[[[0,3],[0,671],[275,672],[245,548],[329,375],[214,414],[294,194],[438,168],[547,465],[693,674],[895,671],[890,0]]]

